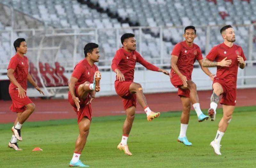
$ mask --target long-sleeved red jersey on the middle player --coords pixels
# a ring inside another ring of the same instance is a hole
[[[122,74],[124,74],[125,81],[133,81],[136,62],[139,62],[141,65],[152,71],[158,71],[159,69],[155,65],[144,60],[139,52],[127,52],[123,47],[116,51],[111,68],[113,71],[115,71],[116,68],[119,69]]]

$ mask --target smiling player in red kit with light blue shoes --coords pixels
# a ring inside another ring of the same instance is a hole
[[[208,68],[202,66],[203,56],[198,45],[194,44],[196,38],[196,29],[194,26],[187,26],[184,29],[185,41],[176,44],[172,50],[171,60],[171,83],[178,88],[178,95],[180,96],[182,104],[182,114],[180,117],[180,135],[178,141],[186,146],[191,146],[192,143],[188,141],[186,132],[189,122],[189,114],[191,104],[193,105],[198,122],[207,120],[209,116],[205,116],[200,109],[199,98],[196,91],[196,84],[191,80],[194,63],[197,60],[201,69],[211,80],[214,75]]]

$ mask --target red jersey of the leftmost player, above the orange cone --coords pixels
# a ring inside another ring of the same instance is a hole
[[[13,69],[13,75],[21,87],[27,90],[28,86],[28,58],[26,56],[21,57],[16,53],[10,60],[8,69]],[[18,87],[15,86],[12,82],[9,85],[9,92],[16,90]]]

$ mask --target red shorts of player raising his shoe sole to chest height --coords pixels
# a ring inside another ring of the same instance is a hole
[[[86,103],[88,101],[90,101],[90,94],[87,94],[87,98],[85,100],[83,100],[79,94],[78,94],[78,86],[75,86],[75,94],[76,97],[78,97],[78,99],[80,100],[79,105],[80,105],[80,109],[79,111],[77,111],[77,107],[75,102],[72,99],[72,96],[70,94],[70,92],[68,92],[68,102],[71,104],[71,106],[73,107],[74,111],[76,112],[77,115],[77,123],[79,123],[82,118],[87,117],[90,121],[92,121],[92,108],[91,108],[91,103],[89,103],[88,105],[86,105]]]

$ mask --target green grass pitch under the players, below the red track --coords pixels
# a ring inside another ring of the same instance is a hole
[[[206,110],[204,110],[206,114]],[[180,112],[162,113],[152,122],[145,114],[135,116],[128,139],[133,156],[126,156],[116,147],[121,140],[125,116],[95,117],[80,157],[90,167],[255,167],[256,166],[256,107],[239,107],[221,141],[222,156],[209,146],[222,117],[216,121],[198,123],[191,111],[187,137],[193,146],[177,142],[180,132]],[[23,151],[7,148],[12,124],[0,125],[0,160],[3,168],[68,167],[78,135],[76,119],[27,122],[22,128]],[[40,147],[43,151],[32,151]]]

